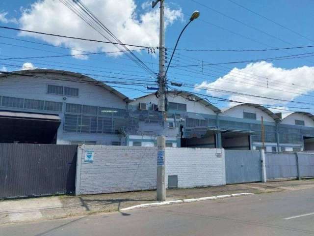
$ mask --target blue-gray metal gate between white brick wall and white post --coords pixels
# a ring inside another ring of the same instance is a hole
[[[261,152],[258,150],[225,150],[226,183],[262,181]]]

